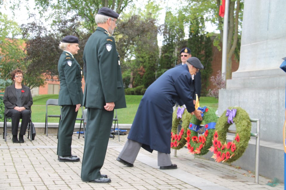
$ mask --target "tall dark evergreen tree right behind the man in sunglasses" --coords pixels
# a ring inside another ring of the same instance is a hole
[[[201,73],[201,96],[207,94],[207,87],[209,86],[209,77],[212,74],[212,40],[208,33],[203,31],[204,18],[193,17],[190,20],[188,47],[191,49],[193,57],[200,59],[204,69],[200,70]]]

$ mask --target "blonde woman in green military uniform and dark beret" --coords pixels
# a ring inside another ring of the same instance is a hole
[[[61,121],[58,132],[57,155],[60,162],[78,162],[80,158],[71,154],[71,140],[77,112],[83,104],[81,88],[82,71],[74,55],[80,49],[79,40],[75,36],[66,36],[60,42],[63,53],[58,63],[60,92],[59,105],[61,106]]]

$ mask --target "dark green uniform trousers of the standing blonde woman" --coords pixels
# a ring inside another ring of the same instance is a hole
[[[61,120],[59,124],[57,155],[71,156],[71,140],[74,133],[74,124],[77,119],[76,105],[63,105],[61,107]]]

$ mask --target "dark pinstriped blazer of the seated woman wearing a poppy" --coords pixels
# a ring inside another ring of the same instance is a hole
[[[22,107],[25,107],[27,110],[31,111],[31,106],[33,104],[33,98],[31,94],[31,90],[29,87],[22,84],[22,94],[21,94],[21,101]],[[6,115],[10,109],[16,107],[17,95],[16,95],[16,88],[15,84],[7,86],[5,89],[5,93],[3,96],[3,102],[5,105],[4,114]]]

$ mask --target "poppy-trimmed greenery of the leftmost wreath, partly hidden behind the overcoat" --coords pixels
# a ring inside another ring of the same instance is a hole
[[[171,148],[179,150],[186,144],[187,129],[189,127],[192,114],[190,114],[187,109],[185,109],[182,114],[182,118],[177,118],[178,107],[173,112],[172,129],[171,129]],[[182,128],[178,132],[178,124],[182,121]]]

